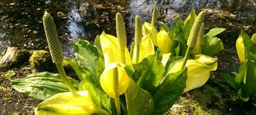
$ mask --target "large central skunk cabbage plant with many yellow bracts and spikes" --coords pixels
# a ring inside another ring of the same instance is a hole
[[[156,7],[153,17],[152,25],[159,23],[156,21]],[[181,38],[176,33],[163,27],[159,35],[145,34],[143,30],[154,27],[146,27],[145,23],[143,27],[140,17],[136,16],[135,42],[129,53],[124,21],[117,13],[117,37],[103,31],[96,37],[94,45],[86,40],[74,41],[74,60],[63,59],[54,21],[45,12],[44,30],[59,74],[34,73],[12,80],[12,88],[26,96],[43,100],[35,108],[36,115],[163,115],[182,93],[204,85],[210,71],[217,68],[216,58],[203,55],[204,48],[208,47],[204,47],[205,42],[202,43],[202,38],[205,38],[203,19],[204,12],[200,12],[193,21],[188,40],[178,43],[185,45],[178,49],[176,47],[174,53],[169,49],[170,45],[165,47],[165,43],[177,45],[173,44],[174,39],[177,41]],[[187,19],[186,23],[189,21]],[[207,38],[213,36],[210,33]],[[202,50],[191,58],[197,41]],[[187,45],[183,42],[187,42]],[[154,45],[160,48],[155,51]],[[186,50],[184,57],[177,55],[181,50]],[[172,56],[172,53],[177,56]],[[72,66],[79,81],[66,76],[63,61]]]

